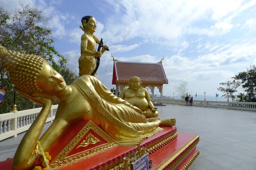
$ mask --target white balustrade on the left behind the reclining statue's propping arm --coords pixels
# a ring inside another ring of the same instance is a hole
[[[58,105],[52,105],[46,122],[51,122],[55,119],[57,108]],[[41,109],[35,108],[0,114],[0,141],[9,137],[16,137],[17,134],[27,131]]]

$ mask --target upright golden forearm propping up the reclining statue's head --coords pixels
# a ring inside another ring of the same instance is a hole
[[[31,169],[35,161],[34,148],[36,142],[43,130],[47,116],[51,110],[52,102],[49,99],[43,99],[43,108],[36,117],[33,124],[21,140],[13,158],[13,169],[28,170]]]

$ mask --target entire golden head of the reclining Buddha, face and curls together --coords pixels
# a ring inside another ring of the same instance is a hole
[[[58,94],[66,88],[63,77],[42,57],[6,50],[0,45],[0,59],[16,90],[41,96]]]

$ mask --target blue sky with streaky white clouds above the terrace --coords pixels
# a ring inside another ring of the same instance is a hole
[[[220,82],[256,64],[256,0],[22,0],[44,9],[57,37],[54,46],[78,75],[81,18],[97,20],[95,35],[110,51],[101,58],[98,79],[112,88],[113,61],[159,62],[169,80],[163,94],[188,82],[188,92],[215,96]],[[3,8],[19,6],[0,0]],[[243,92],[242,89],[239,89]],[[155,90],[155,94],[158,94]]]

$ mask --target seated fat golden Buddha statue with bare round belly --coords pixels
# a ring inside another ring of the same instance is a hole
[[[129,88],[122,91],[122,99],[138,107],[145,117],[158,117],[157,108],[151,102],[149,91],[141,87],[141,79],[137,76],[130,78]]]

